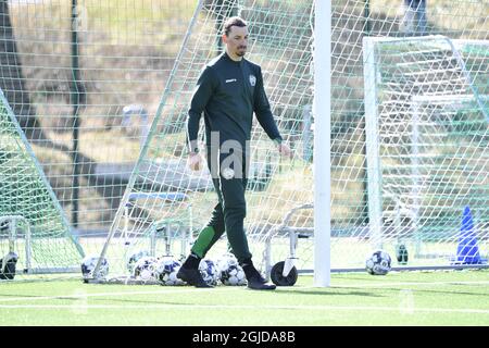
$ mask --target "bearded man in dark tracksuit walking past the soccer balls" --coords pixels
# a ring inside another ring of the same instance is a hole
[[[189,166],[198,171],[203,158],[197,138],[199,121],[204,113],[206,160],[218,203],[208,225],[200,232],[177,277],[196,287],[210,287],[198,268],[211,247],[226,232],[233,253],[242,266],[248,287],[275,289],[266,284],[251,261],[252,254],[243,228],[247,213],[249,140],[253,113],[281,156],[291,156],[274,121],[263,87],[261,67],[244,59],[248,46],[247,23],[230,17],[224,24],[225,52],[208,63],[193,92],[187,121]]]

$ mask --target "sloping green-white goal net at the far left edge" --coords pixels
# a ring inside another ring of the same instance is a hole
[[[78,272],[84,256],[1,90],[0,250],[21,274]]]

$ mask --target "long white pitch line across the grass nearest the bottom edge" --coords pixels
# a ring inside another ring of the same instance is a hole
[[[0,309],[139,309],[139,310],[237,310],[237,309],[252,309],[252,310],[314,310],[314,311],[384,311],[384,312],[400,312],[399,307],[374,307],[374,306],[281,306],[281,304],[264,304],[264,306],[246,306],[246,304],[152,304],[152,306],[139,306],[139,304],[0,304]],[[471,308],[417,308],[410,309],[410,314],[415,312],[427,313],[471,313],[471,314],[487,314],[489,315],[489,309],[471,309]]]

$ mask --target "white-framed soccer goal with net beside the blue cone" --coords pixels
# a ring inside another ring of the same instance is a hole
[[[475,248],[488,244],[489,41],[364,38],[363,49],[371,239],[406,246],[412,265],[463,263],[463,217]]]

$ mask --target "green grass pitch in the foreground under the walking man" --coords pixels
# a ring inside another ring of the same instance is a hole
[[[84,284],[78,278],[0,286],[0,325],[489,325],[489,270],[334,273],[331,286]]]

